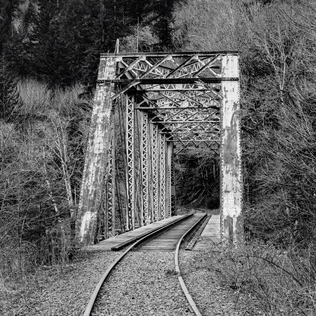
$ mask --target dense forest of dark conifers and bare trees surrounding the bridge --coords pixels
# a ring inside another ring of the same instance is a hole
[[[312,315],[315,18],[314,0],[1,0],[0,291],[74,251],[100,52],[119,38],[121,52],[240,52],[246,229],[290,256]],[[216,206],[218,170],[207,151],[179,155],[179,201]]]

